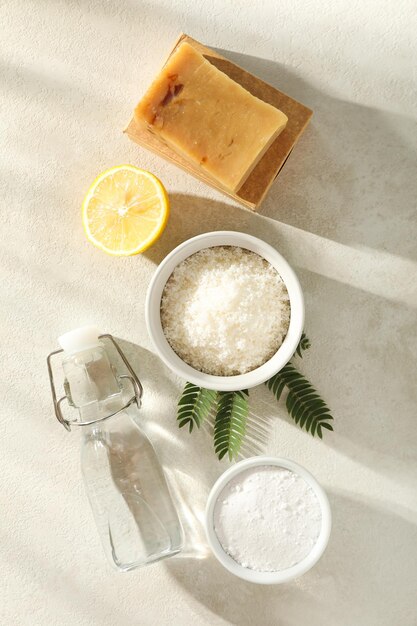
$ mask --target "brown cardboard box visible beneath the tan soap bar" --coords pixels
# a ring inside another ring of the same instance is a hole
[[[246,72],[214,50],[188,37],[188,35],[183,34],[179,37],[169,56],[171,56],[183,41],[187,41],[190,45],[194,46],[210,63],[242,85],[242,87],[247,89],[251,94],[264,102],[272,104],[285,113],[288,117],[287,126],[252,170],[242,187],[235,193],[225,190],[217,181],[213,180],[210,176],[206,176],[199,168],[194,167],[186,159],[171,150],[171,148],[168,148],[158,137],[148,132],[146,129],[139,127],[133,117],[124,132],[127,133],[132,141],[155,152],[167,161],[178,165],[189,174],[192,174],[207,183],[207,185],[225,193],[247,208],[257,211],[268,189],[278,176],[296,142],[304,132],[313,112],[300,102],[297,102],[297,100],[293,100],[293,98],[282,93],[282,91],[278,91],[275,87],[268,85],[268,83],[265,83],[253,74]]]

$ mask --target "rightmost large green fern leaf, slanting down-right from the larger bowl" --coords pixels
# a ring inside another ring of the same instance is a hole
[[[330,409],[313,385],[292,363],[287,363],[278,374],[266,382],[266,385],[277,400],[280,399],[283,389],[287,387],[286,407],[289,415],[300,428],[304,428],[313,437],[317,433],[321,439],[322,428],[333,430],[333,426],[329,423],[333,420]]]

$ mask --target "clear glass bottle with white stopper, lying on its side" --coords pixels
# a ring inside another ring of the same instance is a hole
[[[66,396],[82,425],[84,483],[110,563],[128,571],[177,554],[182,528],[163,469],[99,332],[80,328],[59,343]]]

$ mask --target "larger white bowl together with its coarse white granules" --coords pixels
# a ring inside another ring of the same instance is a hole
[[[304,298],[288,262],[262,239],[237,231],[192,237],[158,265],[145,320],[162,361],[216,391],[250,389],[293,356]]]

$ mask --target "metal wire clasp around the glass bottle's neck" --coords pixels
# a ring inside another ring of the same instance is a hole
[[[124,411],[125,409],[127,409],[129,406],[131,406],[132,404],[136,404],[136,406],[138,408],[140,408],[141,406],[141,398],[142,398],[142,394],[143,394],[143,387],[142,384],[139,380],[139,378],[136,376],[135,372],[132,369],[132,366],[130,365],[126,355],[124,354],[123,350],[121,349],[121,347],[119,346],[119,344],[117,343],[117,341],[114,339],[114,337],[112,335],[109,334],[105,334],[105,335],[100,335],[99,339],[107,339],[109,341],[111,341],[111,343],[113,344],[113,346],[116,348],[120,358],[122,359],[124,365],[126,366],[129,374],[122,374],[119,376],[119,378],[125,378],[127,380],[130,381],[132,388],[133,388],[133,396],[130,398],[130,400],[128,400],[126,402],[126,404],[119,409],[118,411],[115,411],[114,413],[110,413],[110,415],[105,415],[104,417],[99,417],[98,419],[95,420],[91,420],[89,422],[78,422],[76,420],[67,420],[65,419],[62,410],[61,410],[61,404],[64,400],[67,400],[68,402],[68,396],[62,396],[59,400],[57,399],[57,393],[56,393],[56,388],[55,388],[55,382],[54,382],[54,375],[53,375],[53,371],[52,371],[52,357],[56,356],[57,354],[61,354],[62,352],[64,352],[62,349],[61,350],[55,350],[54,352],[51,352],[50,354],[48,354],[48,357],[46,359],[47,364],[48,364],[48,374],[49,374],[49,382],[51,384],[51,393],[52,393],[52,400],[54,403],[54,410],[55,410],[55,416],[58,420],[58,422],[60,424],[62,424],[64,426],[64,428],[66,428],[66,430],[71,430],[71,426],[75,425],[75,426],[90,426],[91,424],[95,424],[96,422],[102,422],[103,420],[109,419],[109,417],[113,417],[114,415],[117,415],[118,413],[121,413],[122,411]]]

